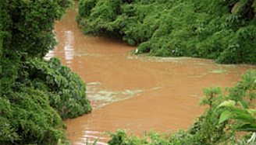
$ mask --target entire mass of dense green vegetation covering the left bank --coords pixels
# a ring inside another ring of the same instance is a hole
[[[56,58],[55,20],[70,0],[0,1],[0,144],[57,144],[62,119],[91,111],[84,82]]]

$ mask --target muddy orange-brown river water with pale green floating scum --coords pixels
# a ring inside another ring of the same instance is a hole
[[[77,4],[76,4],[77,8]],[[187,129],[204,111],[197,105],[202,89],[234,85],[249,65],[220,65],[196,58],[134,56],[136,47],[118,40],[83,36],[76,24],[77,9],[55,24],[59,45],[47,55],[59,57],[87,83],[93,111],[65,121],[72,144],[98,139],[106,131],[127,129],[161,133]]]

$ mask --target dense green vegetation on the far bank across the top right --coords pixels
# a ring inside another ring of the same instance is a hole
[[[256,64],[254,0],[80,0],[83,33],[121,36],[138,53]]]

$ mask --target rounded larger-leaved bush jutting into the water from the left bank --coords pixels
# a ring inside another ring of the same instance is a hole
[[[62,119],[75,118],[91,112],[84,81],[71,72],[69,67],[62,66],[59,59],[33,59],[29,60],[25,67],[34,88],[47,92],[50,105],[59,112]]]

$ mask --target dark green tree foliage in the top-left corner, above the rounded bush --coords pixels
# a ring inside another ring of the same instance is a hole
[[[0,1],[0,88],[3,92],[12,91],[20,61],[44,57],[55,47],[55,20],[63,16],[70,4],[70,0]]]

